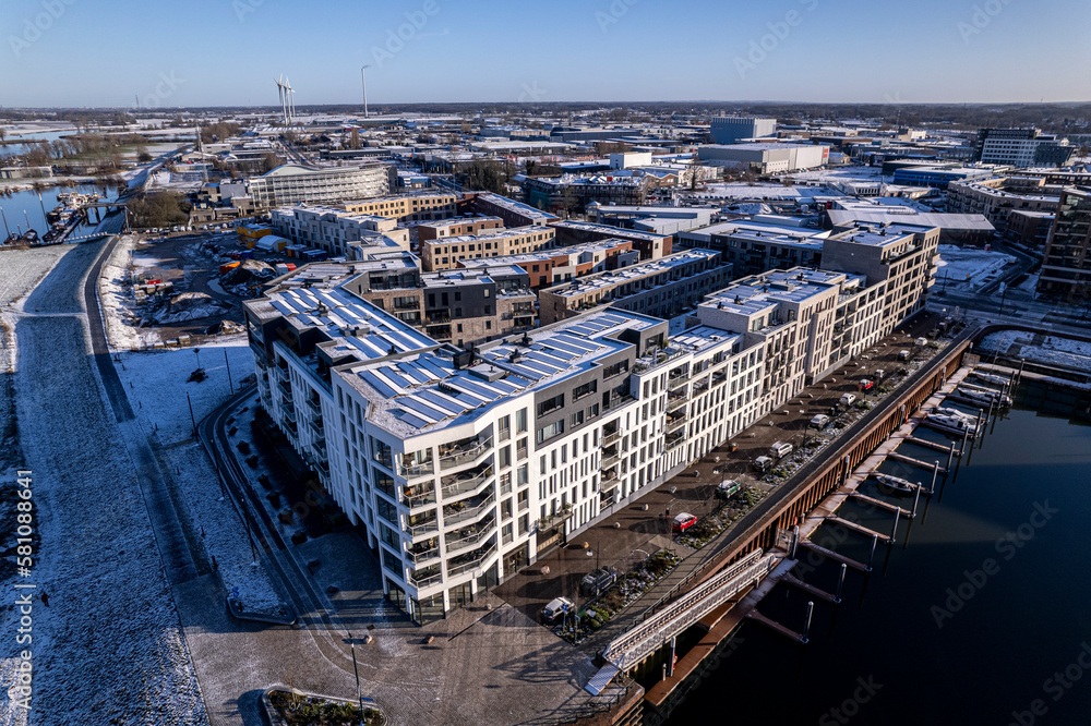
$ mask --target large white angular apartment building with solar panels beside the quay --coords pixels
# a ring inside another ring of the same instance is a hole
[[[353,294],[348,269],[309,265],[243,303],[260,398],[417,622],[632,504],[888,323],[885,281],[795,268],[710,295],[670,339],[608,308],[469,352]]]

